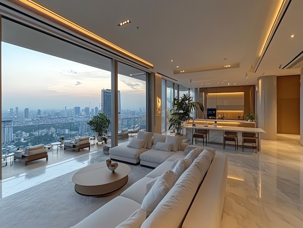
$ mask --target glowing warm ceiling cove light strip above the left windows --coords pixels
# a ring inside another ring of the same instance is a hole
[[[90,30],[87,30],[76,23],[66,19],[65,17],[56,14],[55,12],[45,8],[42,5],[39,5],[38,3],[32,1],[32,0],[11,0],[13,4],[26,9],[30,13],[38,16],[42,16],[47,20],[50,20],[53,23],[56,23],[65,29],[72,30],[73,32],[78,33],[79,35],[85,36],[86,38],[100,44],[103,46],[106,46],[107,48],[118,52],[132,60],[138,61],[139,63],[147,66],[148,68],[153,69],[153,64],[149,61],[143,60],[140,57],[134,55],[133,53],[121,48],[120,46],[117,46],[106,39],[102,38],[101,36],[98,36],[97,34],[91,32]]]

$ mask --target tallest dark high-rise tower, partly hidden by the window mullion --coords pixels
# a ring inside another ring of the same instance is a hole
[[[111,120],[111,90],[101,90],[101,112]],[[118,90],[118,127],[121,126],[121,99]],[[110,131],[110,126],[109,126]]]

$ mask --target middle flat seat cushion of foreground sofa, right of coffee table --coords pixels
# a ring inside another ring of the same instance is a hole
[[[141,204],[146,192],[146,184],[153,180],[150,177],[143,177],[140,180],[133,183],[129,188],[121,193],[120,196],[132,199]]]

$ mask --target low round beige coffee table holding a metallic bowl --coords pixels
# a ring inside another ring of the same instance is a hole
[[[85,196],[107,196],[128,181],[131,167],[118,163],[115,171],[107,168],[106,162],[96,163],[79,169],[73,176],[75,191]]]

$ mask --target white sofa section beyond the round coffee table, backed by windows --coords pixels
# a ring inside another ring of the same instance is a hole
[[[139,145],[139,139],[142,143],[145,140],[145,144]],[[132,142],[134,142],[134,145],[130,147],[129,145]],[[172,144],[171,148],[169,144]],[[188,143],[183,143],[182,137],[140,131],[137,133],[137,138],[132,138],[131,141],[110,148],[109,157],[113,160],[132,164],[140,162],[142,166],[157,167],[171,156],[170,160],[178,158],[178,154],[182,154],[188,145]]]

